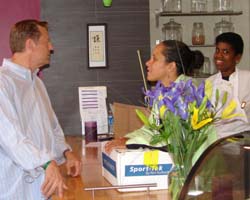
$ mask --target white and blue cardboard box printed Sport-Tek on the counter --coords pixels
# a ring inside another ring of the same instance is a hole
[[[104,143],[103,143],[104,144]],[[150,190],[168,189],[168,173],[173,167],[169,153],[152,150],[126,150],[116,149],[110,155],[103,150],[102,144],[102,175],[112,185],[132,185],[156,183],[157,187]],[[144,164],[145,155],[158,154],[158,169],[153,169]],[[125,191],[142,191],[147,188],[118,189]]]

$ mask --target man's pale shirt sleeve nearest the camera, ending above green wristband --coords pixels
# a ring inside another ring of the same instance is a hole
[[[52,159],[46,149],[40,150],[25,136],[12,103],[13,96],[0,87],[0,146],[6,157],[25,170],[35,169]]]

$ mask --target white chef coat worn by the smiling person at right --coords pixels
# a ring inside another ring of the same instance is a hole
[[[237,102],[235,113],[243,115],[243,117],[234,117],[217,123],[215,128],[218,137],[227,137],[250,130],[250,71],[236,68],[235,72],[230,75],[229,81],[223,80],[220,72],[207,80],[213,85],[212,102],[215,102],[216,88],[219,89],[221,97],[223,92],[227,91],[228,101],[235,99]]]

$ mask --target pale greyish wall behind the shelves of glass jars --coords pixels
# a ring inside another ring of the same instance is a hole
[[[182,0],[182,11],[190,12],[190,2],[191,0]],[[208,1],[208,11],[212,11],[212,2]],[[155,10],[160,9],[160,0],[149,0],[150,3],[150,42],[151,49],[155,46],[156,40],[162,39],[162,24],[169,22],[169,19],[172,17],[160,17],[159,18],[159,27],[156,27],[155,23]],[[205,37],[206,44],[214,43],[214,33],[213,28],[215,23],[221,21],[221,18],[224,17],[227,21],[230,20],[234,23],[234,28],[236,33],[239,33],[244,40],[244,54],[239,67],[242,69],[250,70],[250,47],[249,47],[249,0],[234,0],[234,10],[242,11],[242,15],[236,16],[177,16],[173,17],[176,22],[182,24],[183,29],[183,42],[186,44],[191,44],[192,28],[193,22],[203,22],[205,28]],[[195,47],[196,48],[196,47]],[[193,48],[194,49],[194,48]],[[197,47],[201,50],[205,56],[210,57],[211,64],[213,65],[213,53],[214,47]]]

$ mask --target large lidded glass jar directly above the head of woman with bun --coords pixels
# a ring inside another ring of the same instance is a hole
[[[163,33],[163,40],[182,41],[181,24],[176,23],[173,18],[170,18],[168,23],[163,24],[162,33]]]

